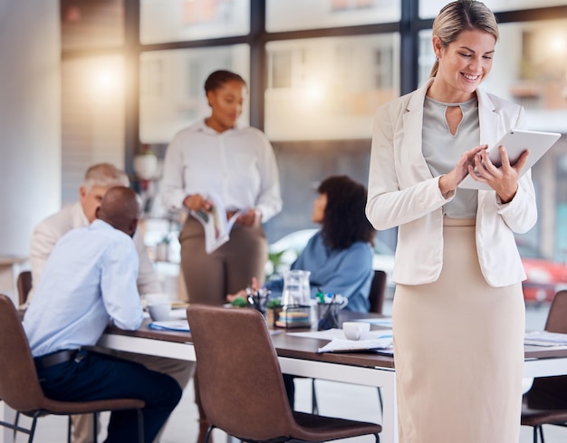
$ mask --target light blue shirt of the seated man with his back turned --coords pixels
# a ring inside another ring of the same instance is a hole
[[[24,316],[34,357],[92,346],[109,321],[138,329],[138,267],[130,236],[102,220],[62,236]]]

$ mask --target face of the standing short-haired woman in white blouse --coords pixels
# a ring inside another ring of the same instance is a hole
[[[242,114],[245,95],[245,84],[236,80],[225,82],[214,91],[208,91],[207,100],[213,112],[206,120],[207,126],[217,132],[235,128],[236,120]]]

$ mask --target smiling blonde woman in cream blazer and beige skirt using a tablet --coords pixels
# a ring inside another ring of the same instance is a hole
[[[498,28],[474,0],[445,6],[423,87],[382,106],[372,135],[367,216],[399,226],[394,354],[402,443],[515,443],[524,363],[524,268],[514,233],[537,212],[529,152],[501,148],[524,110],[478,89]],[[458,188],[467,173],[487,189]]]

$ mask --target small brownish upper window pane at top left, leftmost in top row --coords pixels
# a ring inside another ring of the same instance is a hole
[[[63,51],[124,43],[124,0],[61,0]]]

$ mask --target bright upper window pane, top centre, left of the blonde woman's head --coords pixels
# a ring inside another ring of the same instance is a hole
[[[267,0],[266,30],[331,28],[399,21],[399,0]]]

